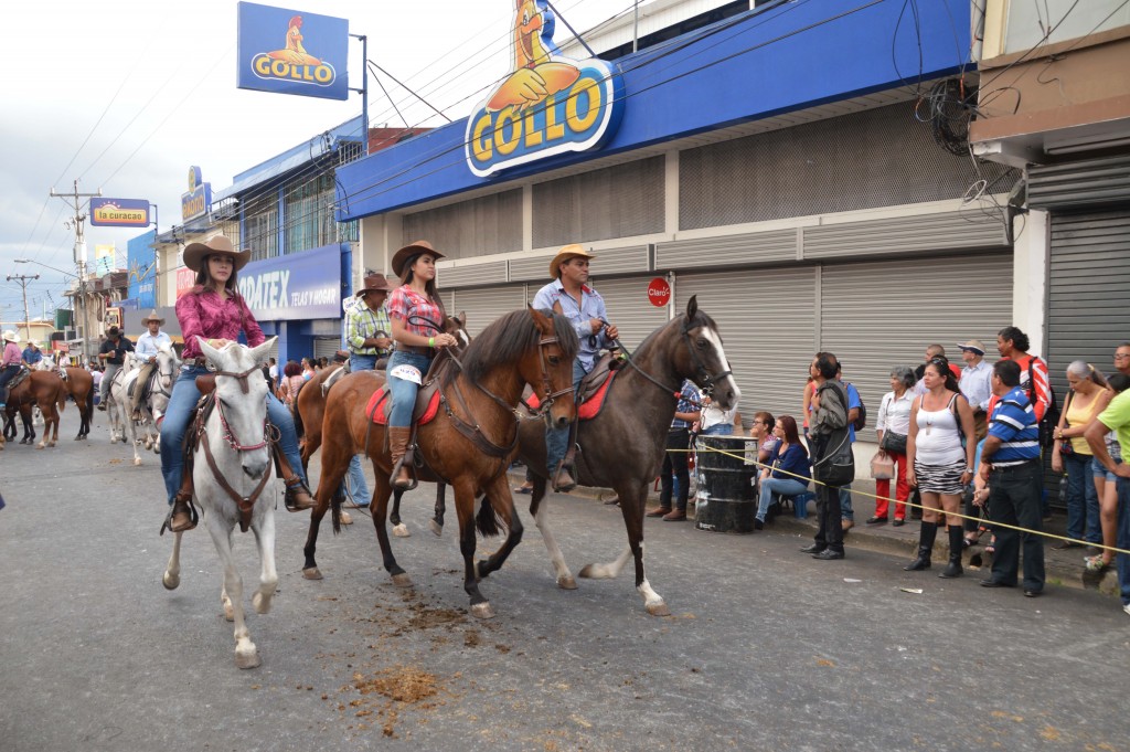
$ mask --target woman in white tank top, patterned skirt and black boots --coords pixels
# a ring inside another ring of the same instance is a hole
[[[962,494],[973,479],[976,434],[973,409],[962,396],[957,379],[944,356],[927,363],[922,374],[925,394],[911,407],[911,432],[906,439],[910,466],[906,482],[922,494],[922,529],[918,559],[903,569],[913,572],[930,569],[930,555],[938,535],[940,512],[948,517],[949,565],[939,577],[962,574]],[[963,446],[964,439],[964,446]]]

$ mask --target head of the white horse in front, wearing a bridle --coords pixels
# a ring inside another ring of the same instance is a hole
[[[257,347],[228,343],[221,348],[197,337],[200,352],[216,373],[216,412],[224,440],[240,456],[243,472],[252,478],[270,469],[267,427],[269,389],[261,373],[262,364],[275,344],[271,337]]]

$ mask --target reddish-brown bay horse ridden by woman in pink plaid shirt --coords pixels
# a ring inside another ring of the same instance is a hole
[[[435,375],[427,381],[437,386],[442,409],[417,429],[416,452],[426,463],[431,479],[441,479],[454,491],[463,589],[470,596],[470,612],[477,617],[494,615],[479,591],[479,579],[502,567],[522,538],[522,522],[514,512],[506,477],[518,441],[519,417],[514,408],[523,386],[529,383],[541,398],[540,409],[546,420],[554,425],[568,425],[576,414],[573,358],[577,347],[576,332],[564,317],[532,308],[513,311],[476,337],[461,360],[438,355],[445,362],[433,369]],[[376,372],[359,371],[342,378],[329,394],[322,431],[322,477],[304,548],[303,574],[307,579],[322,577],[314,559],[319,525],[332,498],[333,529],[340,529],[341,498],[337,491],[349,459],[365,452],[376,475],[372,515],[384,569],[394,585],[411,585],[392,555],[385,529],[393,469],[385,426],[374,424],[366,409],[382,383],[383,378]],[[427,386],[421,387],[425,395],[426,390]],[[480,493],[487,494],[489,503],[483,505],[476,519],[475,501]],[[476,528],[484,535],[497,535],[499,521],[507,530],[505,542],[494,555],[476,565]]]

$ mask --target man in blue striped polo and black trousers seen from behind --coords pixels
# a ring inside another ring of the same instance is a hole
[[[1038,421],[1028,395],[1020,388],[1020,366],[1016,361],[998,361],[990,383],[1000,399],[989,420],[989,436],[981,450],[981,478],[988,484],[989,519],[1032,531],[1018,533],[993,526],[997,554],[992,574],[981,585],[1016,587],[1020,548],[1024,548],[1024,595],[1034,598],[1044,591],[1044,541],[1038,535],[1043,495]],[[984,503],[983,495],[979,494],[976,501]]]

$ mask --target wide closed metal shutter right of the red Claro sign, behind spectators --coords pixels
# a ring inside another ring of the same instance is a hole
[[[819,349],[843,362],[844,378],[868,407],[870,430],[890,391],[890,369],[916,366],[927,345],[941,344],[960,366],[957,343],[976,338],[989,349],[986,360],[997,360],[997,332],[1012,319],[1012,257],[826,266],[820,288]]]

